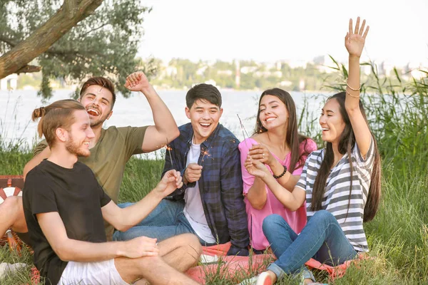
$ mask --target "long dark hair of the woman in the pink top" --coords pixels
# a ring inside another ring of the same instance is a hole
[[[263,127],[262,122],[260,121],[260,102],[262,101],[263,96],[272,95],[277,97],[285,104],[285,108],[288,111],[288,125],[287,125],[287,138],[285,142],[288,147],[290,147],[291,159],[290,159],[290,168],[288,171],[292,173],[296,168],[302,167],[305,165],[305,157],[309,155],[309,151],[306,150],[307,147],[307,137],[301,135],[297,132],[297,115],[296,115],[296,105],[290,93],[280,88],[272,88],[265,90],[262,95],[260,95],[259,100],[259,109],[257,112],[257,123],[255,125],[254,133],[265,133],[267,129]],[[300,143],[305,141],[305,146],[303,147],[303,152],[300,153]],[[298,164],[297,164],[298,163]]]

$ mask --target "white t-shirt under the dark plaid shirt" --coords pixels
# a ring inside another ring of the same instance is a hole
[[[187,165],[190,163],[198,163],[200,156],[200,145],[195,145],[192,142],[190,150],[188,152]],[[203,212],[202,199],[200,199],[200,191],[198,181],[195,187],[188,188],[185,190],[184,195],[184,215],[188,219],[190,225],[198,237],[203,239],[205,242],[213,244],[215,238],[211,233],[210,227],[208,227],[207,219],[205,218],[205,212]]]

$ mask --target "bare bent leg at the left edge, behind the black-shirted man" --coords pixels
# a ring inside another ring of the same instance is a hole
[[[0,204],[0,236],[3,237],[7,229],[14,232],[28,232],[22,207],[22,197],[11,196]]]

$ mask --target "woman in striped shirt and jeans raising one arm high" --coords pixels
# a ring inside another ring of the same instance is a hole
[[[245,167],[276,192],[290,210],[307,203],[307,225],[299,235],[282,217],[272,214],[263,221],[263,233],[277,261],[245,284],[272,284],[285,275],[301,276],[303,284],[315,279],[304,264],[314,258],[336,266],[367,252],[362,223],[373,219],[380,198],[380,158],[360,102],[360,56],[369,27],[355,30],[350,19],[345,46],[349,53],[346,92],[327,100],[320,116],[326,147],[312,152],[295,189],[284,189],[265,165],[248,157]]]

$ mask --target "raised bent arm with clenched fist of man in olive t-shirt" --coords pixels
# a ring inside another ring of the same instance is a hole
[[[146,96],[153,113],[155,125],[149,126],[146,130],[145,139],[141,146],[144,152],[158,150],[180,135],[173,115],[143,72],[138,71],[128,76],[125,87],[131,91],[141,91]]]

